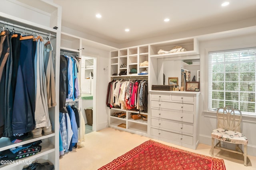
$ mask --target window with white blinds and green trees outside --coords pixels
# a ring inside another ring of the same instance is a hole
[[[230,105],[256,115],[256,47],[209,53],[209,110]]]

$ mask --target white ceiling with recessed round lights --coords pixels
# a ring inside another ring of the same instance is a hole
[[[226,7],[221,4],[230,2]],[[53,0],[62,25],[126,43],[256,17],[256,0]],[[100,13],[102,18],[96,18]],[[164,22],[169,18],[169,22]],[[255,23],[256,24],[256,23]],[[130,32],[124,29],[129,28]]]

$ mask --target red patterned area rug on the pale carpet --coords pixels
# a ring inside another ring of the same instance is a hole
[[[99,170],[226,170],[224,161],[146,141]]]

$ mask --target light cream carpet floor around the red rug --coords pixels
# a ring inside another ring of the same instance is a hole
[[[77,149],[60,157],[60,170],[97,170],[118,156],[148,141],[150,138],[105,128],[86,134],[86,141]],[[154,139],[153,139],[154,140]],[[199,144],[196,150],[180,147],[163,141],[154,140],[164,145],[176,147],[190,152],[210,156],[210,146]],[[247,156],[247,166],[244,166],[243,156],[224,150],[214,150],[216,158],[224,159],[226,170],[255,170],[256,157]],[[57,169],[57,168],[56,168]]]

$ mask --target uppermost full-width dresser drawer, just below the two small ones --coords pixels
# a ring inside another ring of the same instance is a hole
[[[159,109],[173,109],[180,111],[194,111],[193,104],[182,104],[182,103],[172,103],[172,102],[162,102],[162,101],[151,101],[151,107],[157,107]]]

